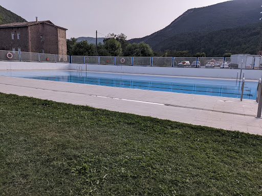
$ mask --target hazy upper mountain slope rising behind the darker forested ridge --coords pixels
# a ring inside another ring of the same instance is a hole
[[[182,33],[210,32],[256,23],[261,17],[261,0],[233,0],[187,10],[164,29],[130,43],[145,42],[153,50],[161,50],[169,38]],[[192,36],[194,36],[192,34]]]

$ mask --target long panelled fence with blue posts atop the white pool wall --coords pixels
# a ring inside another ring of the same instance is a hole
[[[0,51],[0,61],[32,61],[76,64],[262,69],[262,56],[231,57],[99,57]]]

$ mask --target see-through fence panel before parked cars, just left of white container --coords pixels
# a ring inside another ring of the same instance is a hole
[[[199,57],[201,68],[229,68],[223,57]]]

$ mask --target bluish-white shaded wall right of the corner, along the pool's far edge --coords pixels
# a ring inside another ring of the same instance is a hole
[[[70,69],[77,69],[81,64],[70,64]],[[221,69],[221,68],[189,68],[189,67],[150,67],[150,66],[122,66],[122,65],[82,65],[82,70],[120,72],[129,74],[156,74],[171,76],[191,76],[191,77],[213,77],[213,78],[238,78],[241,69]],[[262,77],[262,70],[243,69],[245,79],[258,80]]]

